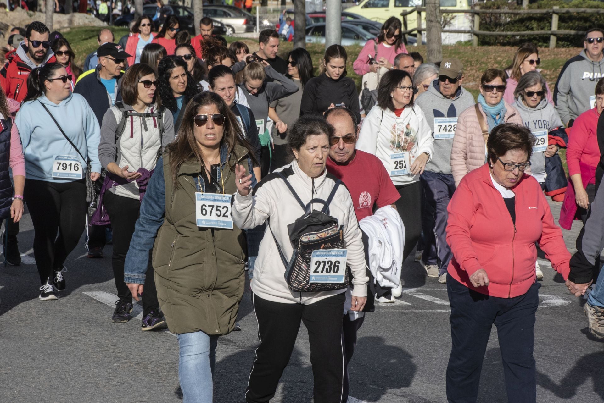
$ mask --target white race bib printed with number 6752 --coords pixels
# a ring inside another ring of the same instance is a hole
[[[195,192],[195,219],[198,227],[233,229],[231,195]]]

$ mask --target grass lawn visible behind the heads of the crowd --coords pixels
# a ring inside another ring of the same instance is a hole
[[[120,38],[128,33],[126,28],[108,27],[115,35],[115,41],[117,42]],[[86,55],[93,52],[98,47],[97,34],[99,28],[97,27],[76,27],[64,33],[67,40],[71,44],[74,52],[76,53],[76,63],[82,66]],[[251,52],[257,51],[257,41],[246,38],[228,37],[227,42],[231,43],[236,40],[245,42]],[[279,56],[285,59],[288,56],[288,52],[293,48],[292,42],[282,42],[279,47]],[[312,57],[312,63],[315,68],[315,75],[318,74],[321,59],[325,51],[324,45],[315,43],[307,43],[306,49],[309,51]],[[361,52],[362,46],[353,45],[345,46],[348,53],[348,76],[355,80],[357,88],[361,89],[361,76],[355,74],[352,69],[352,63],[358,57]],[[573,57],[582,49],[580,48],[558,48],[558,49],[540,49],[539,57],[541,57],[541,74],[544,75],[550,85],[550,89],[553,90],[554,83],[556,82],[557,75],[564,63]],[[410,46],[408,51],[417,51],[426,58],[426,46]],[[469,90],[469,92],[478,96],[478,84],[480,83],[480,77],[483,72],[488,68],[506,68],[512,63],[512,57],[516,48],[512,46],[480,46],[473,48],[467,45],[446,45],[443,46],[444,57],[457,57],[464,64],[464,81],[463,86]],[[559,152],[564,168],[566,168],[566,153],[565,150]]]

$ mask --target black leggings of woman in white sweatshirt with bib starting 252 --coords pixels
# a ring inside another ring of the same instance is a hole
[[[397,185],[400,198],[394,203],[405,225],[403,262],[416,246],[422,233],[422,185],[419,181],[409,185]]]

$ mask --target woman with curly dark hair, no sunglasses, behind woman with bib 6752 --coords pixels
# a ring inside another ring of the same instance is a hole
[[[187,63],[176,56],[168,56],[159,62],[157,90],[162,103],[172,112],[174,130],[182,122],[188,101],[199,93],[199,87],[187,71]]]

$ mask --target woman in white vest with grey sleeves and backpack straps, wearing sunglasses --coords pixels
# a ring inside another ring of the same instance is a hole
[[[109,108],[101,125],[98,156],[107,176],[92,222],[106,225],[111,221],[114,233],[112,267],[119,298],[111,317],[114,323],[130,320],[132,294],[124,284],[124,261],[155,162],[174,139],[172,113],[161,108],[157,82],[155,70],[148,65],[138,63],[127,69],[120,83],[123,103]],[[144,259],[144,264],[149,258]],[[149,273],[153,273],[151,265]],[[145,285],[141,329],[149,331],[165,326],[165,319],[159,310],[152,275]]]

